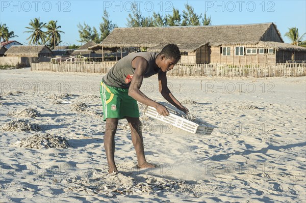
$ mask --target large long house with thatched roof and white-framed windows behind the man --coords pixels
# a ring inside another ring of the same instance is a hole
[[[306,61],[306,48],[284,43],[274,23],[115,28],[91,50],[179,46],[186,64],[275,64]]]

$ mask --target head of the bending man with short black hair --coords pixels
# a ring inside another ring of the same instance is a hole
[[[158,55],[157,65],[163,72],[173,69],[181,59],[181,51],[175,44],[166,45]]]

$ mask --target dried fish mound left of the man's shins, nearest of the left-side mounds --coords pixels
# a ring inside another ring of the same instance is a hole
[[[66,138],[55,134],[35,134],[31,137],[23,138],[14,143],[15,146],[22,148],[67,148],[69,144]]]

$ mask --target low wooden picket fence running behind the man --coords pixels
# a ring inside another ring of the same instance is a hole
[[[107,73],[116,61],[112,62],[65,62],[60,64],[32,63],[31,70]],[[269,65],[221,65],[221,64],[176,64],[167,72],[171,76],[224,76],[224,77],[281,77],[305,76],[306,64]]]

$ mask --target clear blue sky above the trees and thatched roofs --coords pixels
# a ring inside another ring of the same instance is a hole
[[[127,16],[131,11],[131,3],[136,2],[143,16],[152,16],[159,12],[163,15],[172,14],[172,8],[184,10],[184,5],[191,5],[195,13],[212,18],[213,25],[251,24],[273,22],[276,24],[282,38],[288,27],[297,27],[299,34],[306,32],[306,1],[0,1],[0,22],[6,23],[10,31],[18,37],[12,38],[26,44],[29,37],[25,26],[31,19],[40,17],[42,22],[57,20],[61,25],[62,44],[77,44],[79,32],[77,24],[83,22],[99,27],[103,10],[106,9],[110,20],[119,27],[126,27]],[[306,37],[303,37],[305,40]]]

